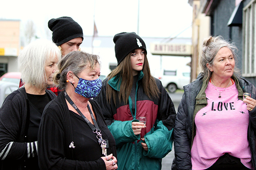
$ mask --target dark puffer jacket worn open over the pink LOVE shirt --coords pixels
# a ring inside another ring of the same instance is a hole
[[[256,98],[256,89],[249,81],[243,78],[236,78],[236,87],[238,89],[238,98],[242,100],[243,92],[251,93],[251,98]],[[175,158],[172,163],[172,170],[191,170],[191,147],[195,135],[194,116],[203,107],[207,105],[205,89],[208,81],[199,74],[197,80],[184,86],[184,94],[181,103],[178,106],[178,112],[174,125],[174,151]],[[248,139],[251,148],[251,159],[256,169],[256,108],[249,111]]]

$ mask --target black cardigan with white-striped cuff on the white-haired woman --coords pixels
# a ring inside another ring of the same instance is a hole
[[[47,89],[46,93],[51,100],[56,97]],[[37,157],[37,141],[25,142],[29,119],[27,94],[21,87],[9,94],[0,108],[0,170],[25,169],[26,161]]]

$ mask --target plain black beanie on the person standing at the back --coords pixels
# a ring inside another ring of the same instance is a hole
[[[70,17],[64,16],[50,19],[48,27],[53,31],[52,39],[57,46],[78,37],[84,40],[82,27]]]

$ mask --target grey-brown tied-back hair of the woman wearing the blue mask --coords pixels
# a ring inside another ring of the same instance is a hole
[[[69,71],[73,74],[80,74],[86,66],[89,66],[93,70],[97,64],[100,65],[99,56],[89,54],[84,51],[72,51],[66,54],[58,63],[59,71],[55,72],[53,77],[54,83],[59,89],[65,89],[67,85],[67,73]]]

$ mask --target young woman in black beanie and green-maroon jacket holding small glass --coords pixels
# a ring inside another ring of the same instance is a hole
[[[142,38],[122,32],[113,40],[118,65],[94,99],[116,140],[118,168],[160,170],[162,158],[172,149],[174,104],[151,76]],[[139,117],[146,117],[146,123]]]

